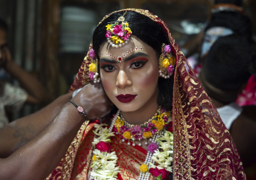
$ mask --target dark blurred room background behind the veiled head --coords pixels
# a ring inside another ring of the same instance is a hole
[[[211,0],[0,0],[0,18],[9,26],[8,47],[14,61],[42,82],[50,102],[68,92],[93,30],[106,14],[124,8],[147,9],[165,21],[181,46],[205,27],[213,4]],[[256,1],[244,1],[243,8],[255,35]],[[15,83],[5,72],[0,75]],[[11,118],[46,104],[25,105]]]

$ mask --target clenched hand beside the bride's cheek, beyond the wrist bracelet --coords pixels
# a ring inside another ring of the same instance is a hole
[[[103,117],[111,111],[113,106],[101,83],[85,85],[72,98],[72,101],[84,108],[87,119]]]

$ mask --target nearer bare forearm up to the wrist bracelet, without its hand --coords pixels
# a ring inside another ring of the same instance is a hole
[[[0,176],[3,179],[44,179],[65,154],[84,121],[85,117],[74,105],[67,103],[38,136],[10,157],[0,159]]]

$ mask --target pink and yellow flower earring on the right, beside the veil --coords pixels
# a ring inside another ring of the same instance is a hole
[[[162,78],[170,78],[173,74],[175,65],[175,56],[171,54],[170,45],[162,45],[162,54],[159,58],[159,76]]]

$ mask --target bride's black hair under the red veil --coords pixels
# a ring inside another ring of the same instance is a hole
[[[93,33],[93,49],[97,56],[101,44],[106,41],[105,26],[111,22],[115,22],[120,16],[124,14],[124,12],[125,11],[121,11],[110,15],[95,29]],[[127,11],[124,15],[124,18],[125,22],[129,23],[129,28],[133,32],[132,35],[136,36],[141,41],[152,47],[155,50],[157,57],[159,58],[161,55],[162,44],[170,44],[169,38],[162,26],[150,18],[134,11]],[[158,80],[158,104],[166,110],[172,109],[173,84],[174,75],[172,75],[169,79],[159,78]]]

